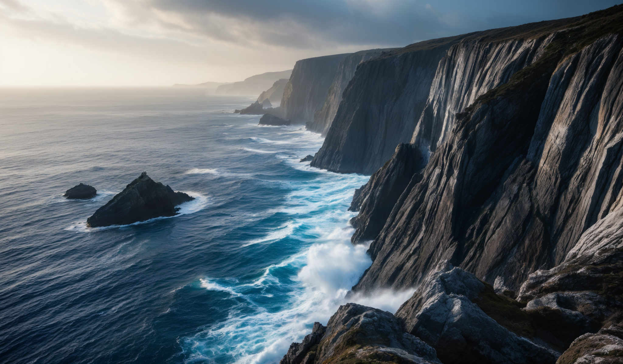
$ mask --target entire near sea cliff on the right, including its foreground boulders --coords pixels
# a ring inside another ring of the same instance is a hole
[[[282,363],[623,360],[623,6],[361,62],[312,166],[372,175],[353,292],[418,289]]]

